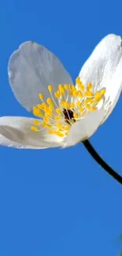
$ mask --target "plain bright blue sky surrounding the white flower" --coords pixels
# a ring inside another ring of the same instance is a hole
[[[73,80],[94,46],[122,35],[121,0],[1,0],[0,115],[30,114],[9,87],[7,62],[34,40],[56,54]],[[116,84],[115,84],[116,86]],[[122,174],[122,97],[91,142]],[[66,150],[0,148],[1,256],[117,256],[122,190],[82,145]]]

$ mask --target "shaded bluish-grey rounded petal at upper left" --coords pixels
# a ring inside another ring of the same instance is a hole
[[[39,93],[49,97],[59,83],[72,84],[72,78],[58,58],[44,46],[31,41],[22,43],[9,58],[9,83],[17,100],[29,111],[39,103]]]

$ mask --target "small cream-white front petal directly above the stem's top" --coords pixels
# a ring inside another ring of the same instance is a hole
[[[99,109],[87,114],[82,120],[72,125],[69,135],[65,141],[65,147],[70,147],[88,139],[98,129],[104,115],[104,109]]]

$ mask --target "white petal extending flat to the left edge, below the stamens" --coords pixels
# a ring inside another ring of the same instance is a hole
[[[0,145],[18,148],[43,149],[60,147],[61,138],[42,132],[31,131],[33,119],[26,117],[0,118]]]

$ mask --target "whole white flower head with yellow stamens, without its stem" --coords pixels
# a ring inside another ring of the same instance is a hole
[[[23,43],[9,58],[9,83],[36,119],[1,117],[0,145],[33,149],[75,145],[94,134],[120,96],[120,36],[107,35],[98,43],[76,86],[54,54],[37,43]]]

